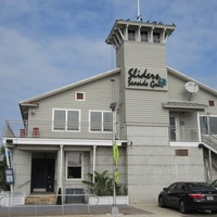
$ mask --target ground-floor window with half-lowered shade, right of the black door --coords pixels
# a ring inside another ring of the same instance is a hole
[[[66,177],[67,179],[82,178],[82,153],[68,152],[66,157]]]

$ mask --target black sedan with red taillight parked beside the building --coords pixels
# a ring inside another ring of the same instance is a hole
[[[205,182],[175,182],[159,193],[158,205],[179,208],[182,214],[196,209],[216,214],[217,190]]]

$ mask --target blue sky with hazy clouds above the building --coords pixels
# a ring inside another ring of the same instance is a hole
[[[217,0],[140,0],[141,17],[176,24],[167,66],[217,90]],[[0,136],[18,102],[115,68],[105,43],[138,0],[0,0]]]

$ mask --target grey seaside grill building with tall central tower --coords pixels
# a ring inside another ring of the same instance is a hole
[[[217,92],[166,66],[175,28],[117,20],[105,40],[116,68],[20,103],[23,120],[7,122],[3,138],[14,192],[86,189],[88,173],[113,174],[114,139],[130,203],[215,178]]]

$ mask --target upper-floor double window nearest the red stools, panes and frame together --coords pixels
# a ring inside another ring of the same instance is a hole
[[[80,112],[76,110],[54,110],[53,130],[79,131]]]

